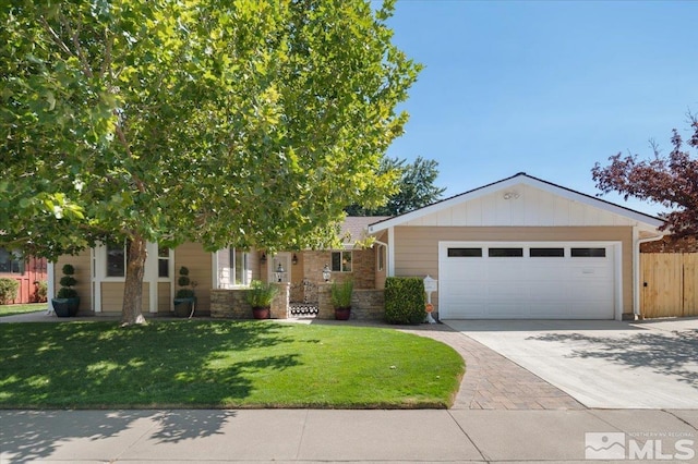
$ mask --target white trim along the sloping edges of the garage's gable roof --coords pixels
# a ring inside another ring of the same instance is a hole
[[[376,233],[392,227],[400,225],[426,215],[442,211],[461,203],[521,184],[529,185],[549,192],[551,194],[578,202],[580,204],[604,209],[609,212],[626,217],[652,228],[657,228],[663,223],[661,219],[654,216],[646,215],[643,212],[636,211],[634,209],[626,208],[624,206],[619,206],[591,195],[573,191],[571,188],[563,187],[562,185],[557,185],[552,182],[543,181],[532,175],[528,175],[526,172],[519,172],[510,178],[506,178],[501,181],[465,192],[462,194],[445,198],[414,211],[406,212],[404,215],[395,216],[393,218],[387,218],[381,221],[375,221],[369,225],[369,233]]]

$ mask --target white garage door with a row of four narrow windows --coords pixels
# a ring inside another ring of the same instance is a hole
[[[619,243],[438,245],[442,319],[613,319]]]

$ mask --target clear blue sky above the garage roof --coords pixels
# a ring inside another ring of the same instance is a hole
[[[388,156],[438,161],[445,196],[521,171],[595,195],[597,161],[698,113],[698,1],[398,0],[388,24],[425,65]]]

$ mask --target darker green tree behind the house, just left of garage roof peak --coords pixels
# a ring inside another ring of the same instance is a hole
[[[413,162],[405,159],[384,158],[381,172],[398,172],[397,192],[388,197],[385,205],[365,208],[352,205],[347,208],[349,216],[397,216],[413,211],[441,199],[446,188],[434,185],[438,176],[438,162],[418,156]]]

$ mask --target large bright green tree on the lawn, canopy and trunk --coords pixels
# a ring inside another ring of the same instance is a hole
[[[419,65],[394,1],[14,0],[0,11],[0,245],[56,258],[128,241],[305,247],[395,173]]]

